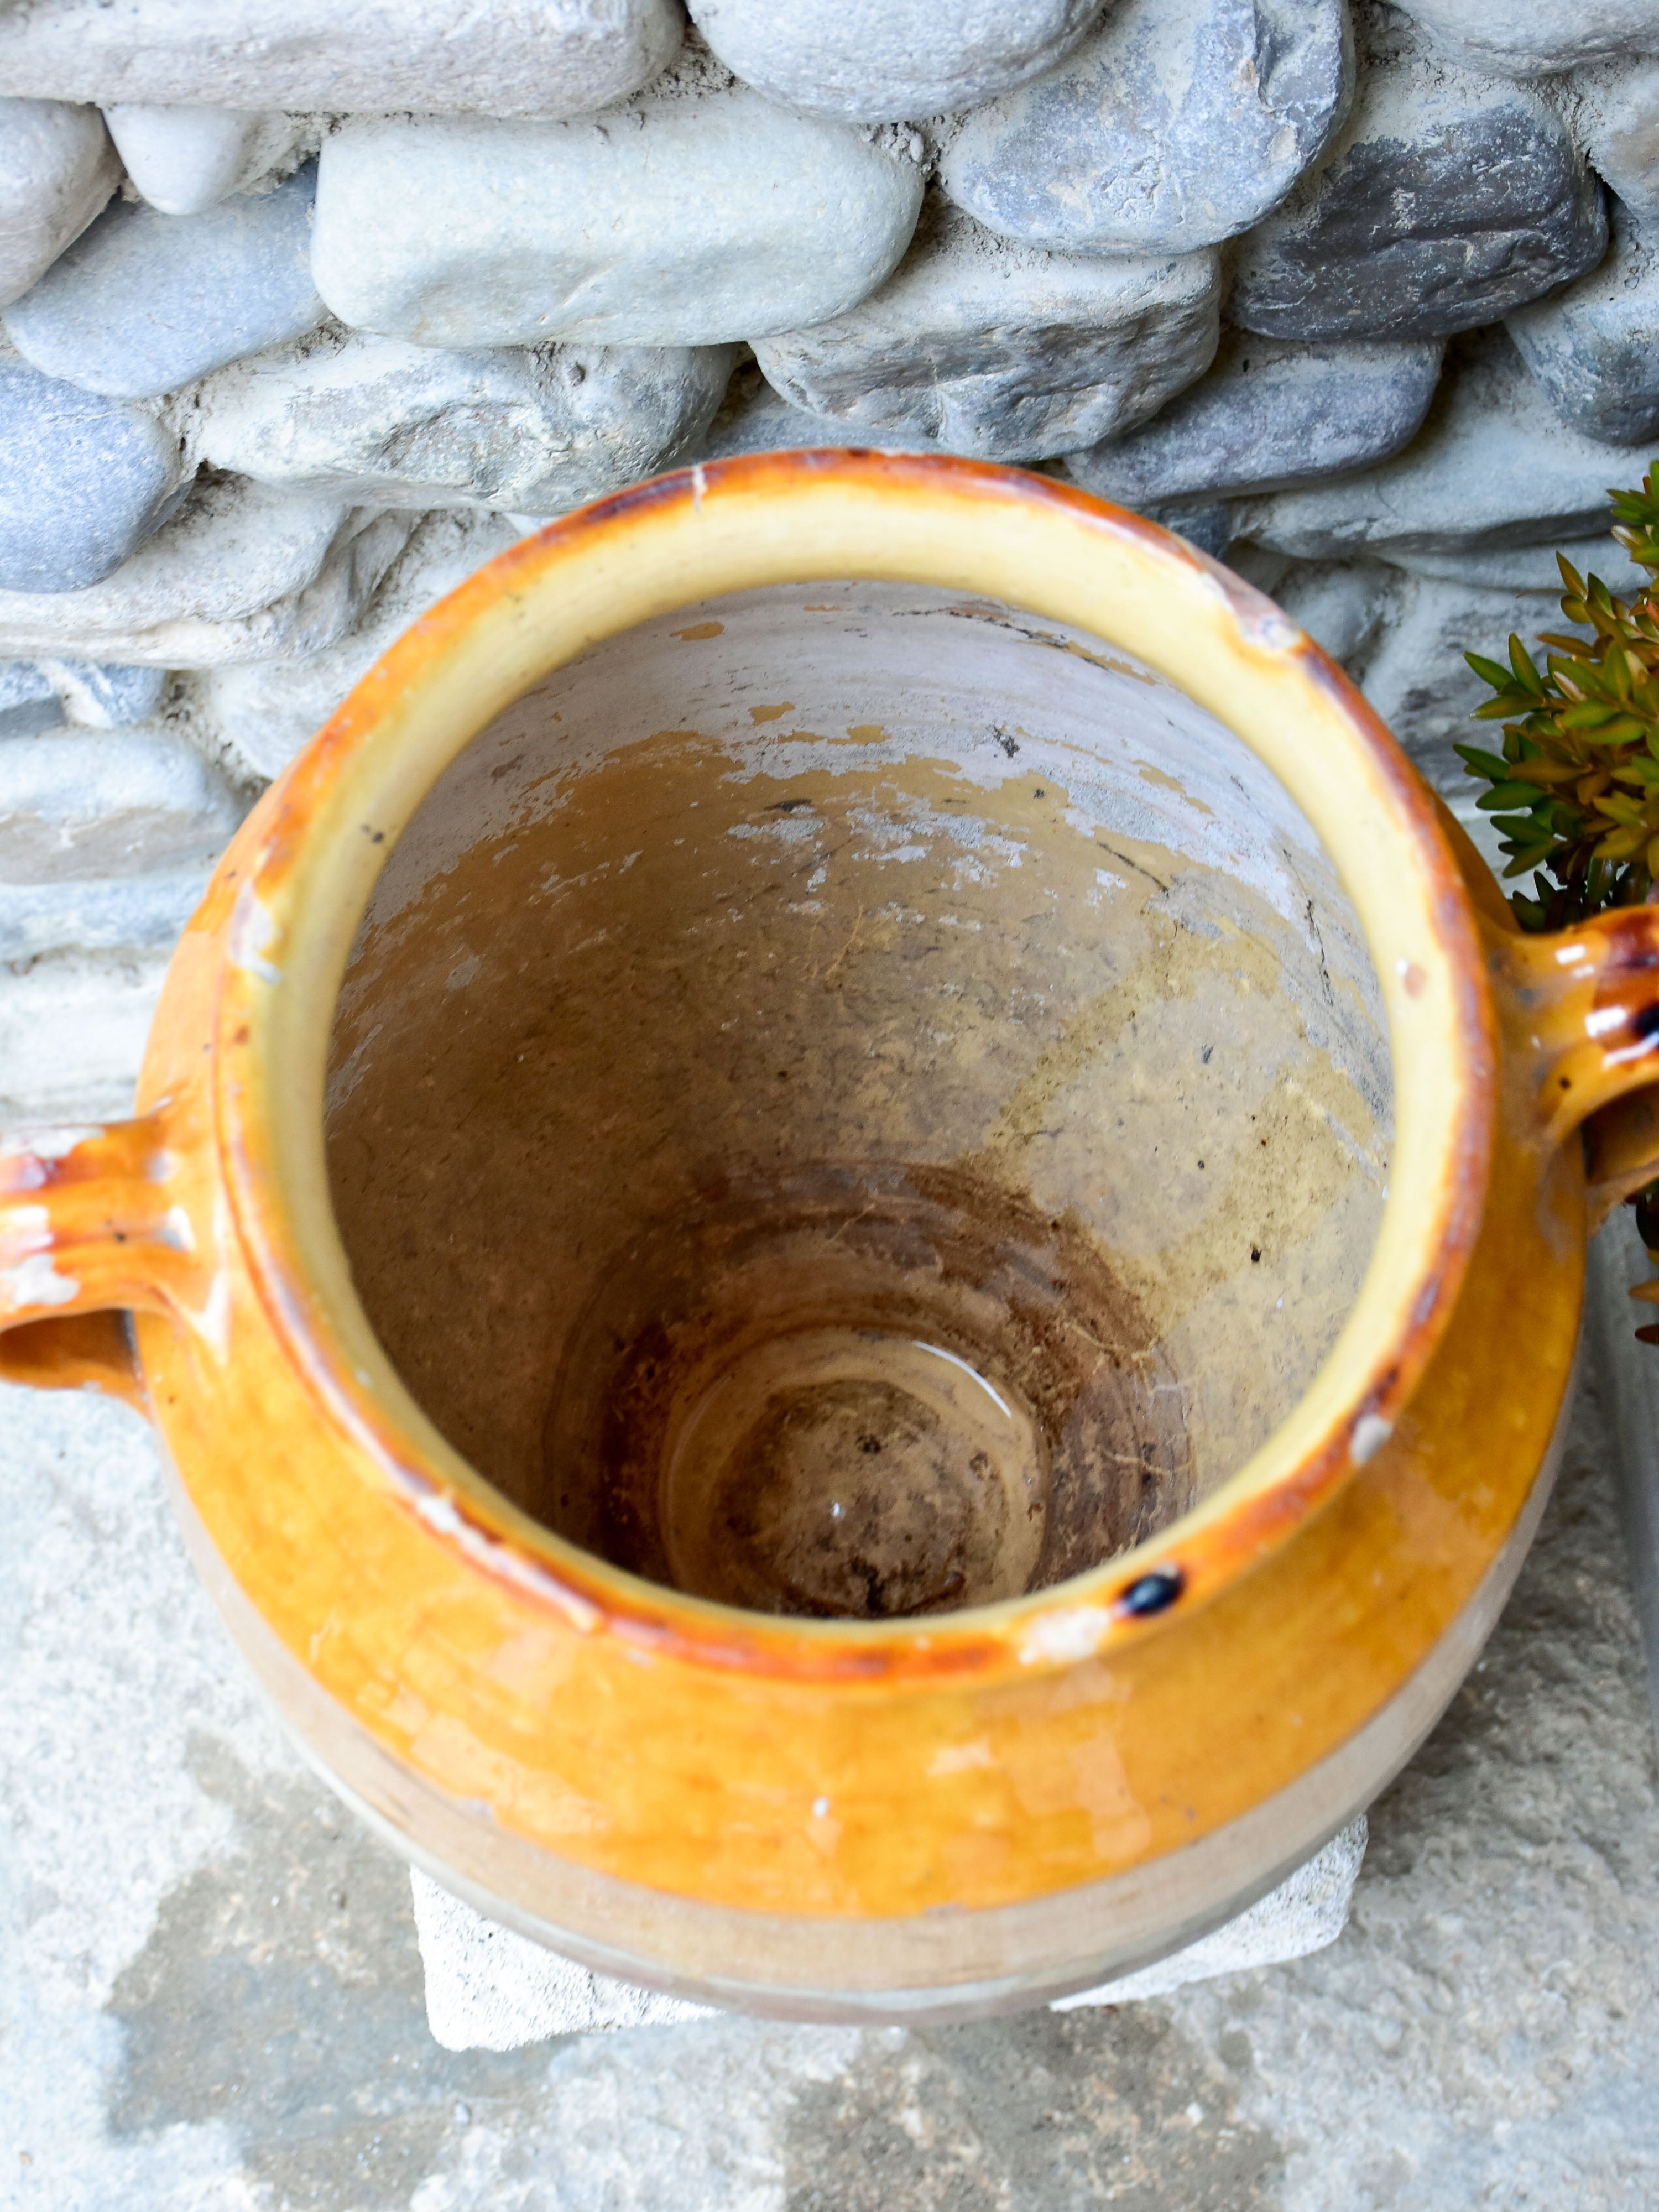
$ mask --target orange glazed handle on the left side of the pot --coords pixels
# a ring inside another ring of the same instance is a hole
[[[0,1137],[0,1380],[146,1409],[124,1312],[177,1312],[199,1276],[164,1102],[108,1128]]]

